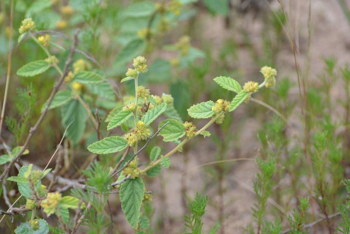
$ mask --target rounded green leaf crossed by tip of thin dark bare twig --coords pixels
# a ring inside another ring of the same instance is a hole
[[[166,119],[159,123],[158,129],[169,123],[159,132],[159,135],[163,136],[163,141],[175,141],[185,135],[185,128],[183,124],[175,119]]]

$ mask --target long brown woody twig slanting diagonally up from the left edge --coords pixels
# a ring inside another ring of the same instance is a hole
[[[65,62],[65,66],[64,66],[64,69],[63,69],[63,74],[61,75],[61,78],[58,80],[58,82],[55,83],[54,88],[52,89],[52,92],[50,94],[50,98],[48,100],[48,103],[47,103],[44,111],[40,115],[40,117],[39,117],[38,121],[36,122],[36,124],[34,125],[34,127],[30,128],[28,137],[26,139],[26,142],[24,143],[24,145],[21,148],[20,152],[18,152],[18,154],[15,156],[15,158],[8,164],[8,166],[6,167],[5,171],[3,171],[3,173],[1,174],[0,181],[3,180],[3,178],[7,175],[8,171],[10,170],[11,166],[20,158],[22,153],[27,149],[31,138],[33,138],[34,133],[36,132],[37,128],[39,127],[39,125],[43,121],[43,119],[44,119],[44,117],[45,117],[45,115],[46,115],[46,113],[47,113],[47,111],[49,109],[49,106],[50,106],[52,100],[54,99],[55,94],[58,92],[59,87],[61,87],[65,76],[68,74],[69,66],[70,66],[70,64],[72,62],[73,54],[74,54],[75,48],[76,48],[77,43],[78,43],[78,32],[74,36],[75,40],[74,40],[74,43],[73,43],[73,45],[72,45],[72,47],[70,49],[68,59]]]

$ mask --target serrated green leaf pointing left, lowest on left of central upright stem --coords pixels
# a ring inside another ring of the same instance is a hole
[[[87,149],[95,154],[110,154],[121,151],[128,146],[126,140],[120,136],[109,136],[89,145]]]

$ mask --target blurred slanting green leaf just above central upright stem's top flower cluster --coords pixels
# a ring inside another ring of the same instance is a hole
[[[136,56],[142,54],[145,48],[146,43],[144,40],[133,40],[119,51],[115,62],[117,64],[129,62]]]

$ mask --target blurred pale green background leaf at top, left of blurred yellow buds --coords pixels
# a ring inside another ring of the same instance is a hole
[[[152,1],[136,2],[123,11],[124,17],[143,17],[153,14],[155,11],[155,4]]]

